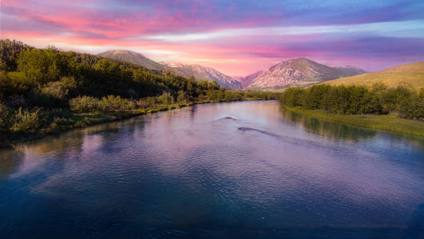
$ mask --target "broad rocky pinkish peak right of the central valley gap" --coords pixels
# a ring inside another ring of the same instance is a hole
[[[301,57],[275,64],[250,82],[245,89],[306,87],[326,80],[354,76],[358,73],[353,69],[328,67]]]

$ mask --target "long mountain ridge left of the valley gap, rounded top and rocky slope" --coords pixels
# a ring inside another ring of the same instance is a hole
[[[179,62],[155,62],[140,53],[127,50],[111,50],[98,54],[103,57],[123,60],[134,64],[139,64],[147,69],[155,71],[172,71],[175,76],[183,76],[189,78],[194,76],[196,80],[216,80],[222,87],[230,89],[242,89],[242,85],[236,79],[231,78],[220,71],[211,67],[203,67],[199,64],[182,64]]]

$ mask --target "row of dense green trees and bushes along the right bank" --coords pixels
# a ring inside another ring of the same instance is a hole
[[[398,114],[424,120],[424,89],[419,94],[409,85],[388,88],[376,83],[371,90],[362,86],[314,85],[308,89],[289,88],[280,96],[282,105],[324,109],[339,114]]]

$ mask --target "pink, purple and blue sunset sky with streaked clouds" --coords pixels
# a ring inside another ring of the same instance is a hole
[[[0,0],[2,39],[247,76],[307,57],[378,71],[424,61],[423,0]]]

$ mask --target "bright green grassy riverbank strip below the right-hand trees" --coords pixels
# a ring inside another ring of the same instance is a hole
[[[304,109],[302,107],[285,107],[292,112],[306,114],[312,117],[324,118],[330,121],[348,123],[360,127],[371,127],[404,134],[424,136],[424,122],[399,118],[394,114],[334,114],[321,109]]]

